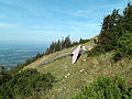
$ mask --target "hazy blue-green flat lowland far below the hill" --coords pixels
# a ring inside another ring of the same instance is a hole
[[[48,44],[0,42],[0,65],[11,68],[37,53],[44,53]]]

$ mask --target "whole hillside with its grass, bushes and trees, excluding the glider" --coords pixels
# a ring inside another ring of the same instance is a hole
[[[78,45],[88,53],[75,64],[72,56],[59,58]],[[1,67],[0,99],[21,98],[132,99],[132,3],[122,14],[116,9],[108,14],[99,35],[90,40],[72,42],[67,36],[11,70]]]

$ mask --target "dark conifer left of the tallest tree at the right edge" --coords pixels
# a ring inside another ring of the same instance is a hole
[[[101,33],[98,37],[97,44],[99,44],[105,52],[109,52],[116,48],[118,32],[117,28],[120,23],[119,10],[113,10],[112,14],[107,15],[103,19]]]

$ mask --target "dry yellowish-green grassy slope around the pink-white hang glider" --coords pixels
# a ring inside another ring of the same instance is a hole
[[[89,42],[84,45],[89,47],[92,46],[94,43]],[[74,65],[72,64],[72,57],[69,56],[44,66],[37,66],[45,61],[66,55],[69,52],[73,52],[75,47],[76,46],[44,56],[24,68],[36,68],[38,72],[51,72],[55,75],[57,82],[52,90],[47,91],[48,96],[46,96],[50,97],[50,99],[69,99],[69,97],[76,96],[82,86],[92,82],[99,76],[113,77],[114,75],[120,75],[127,78],[129,84],[132,85],[132,61],[122,59],[118,63],[112,63],[112,53],[95,57],[88,57],[88,55],[85,54],[81,55]],[[86,59],[86,62],[82,59]],[[69,76],[66,78],[67,74],[69,74]],[[44,97],[43,92],[38,96],[40,98]]]

